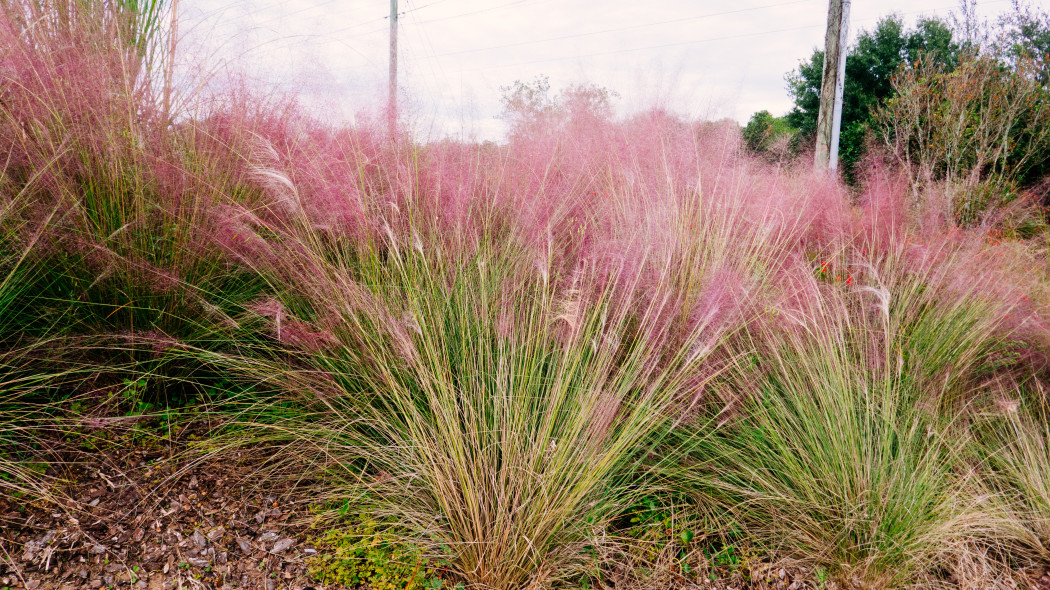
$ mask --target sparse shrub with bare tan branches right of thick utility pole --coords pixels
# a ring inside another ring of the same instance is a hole
[[[982,55],[946,72],[923,60],[897,77],[897,96],[877,112],[878,136],[916,187],[943,181],[957,192],[962,225],[987,223],[1050,157],[1050,94],[1028,68]]]

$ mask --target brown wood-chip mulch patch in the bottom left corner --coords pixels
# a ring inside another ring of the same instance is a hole
[[[258,486],[258,455],[185,452],[194,428],[65,451],[60,505],[0,497],[0,588],[322,588],[294,488]]]

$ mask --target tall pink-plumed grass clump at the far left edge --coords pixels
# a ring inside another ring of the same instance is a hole
[[[2,4],[0,230],[21,295],[0,342],[47,340],[42,364],[186,377],[194,361],[164,353],[228,342],[265,285],[215,244],[239,154],[197,149],[204,132],[173,123],[168,16],[163,2]]]

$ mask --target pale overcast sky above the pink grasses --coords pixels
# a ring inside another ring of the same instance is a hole
[[[1036,0],[1041,5],[1047,0]],[[978,0],[989,21],[1009,0]],[[420,136],[499,139],[500,87],[550,78],[746,122],[791,108],[784,75],[823,48],[827,0],[399,0],[401,102]],[[849,34],[900,14],[947,18],[957,0],[854,0]],[[383,104],[388,0],[183,0],[194,66],[231,67],[351,121]]]

